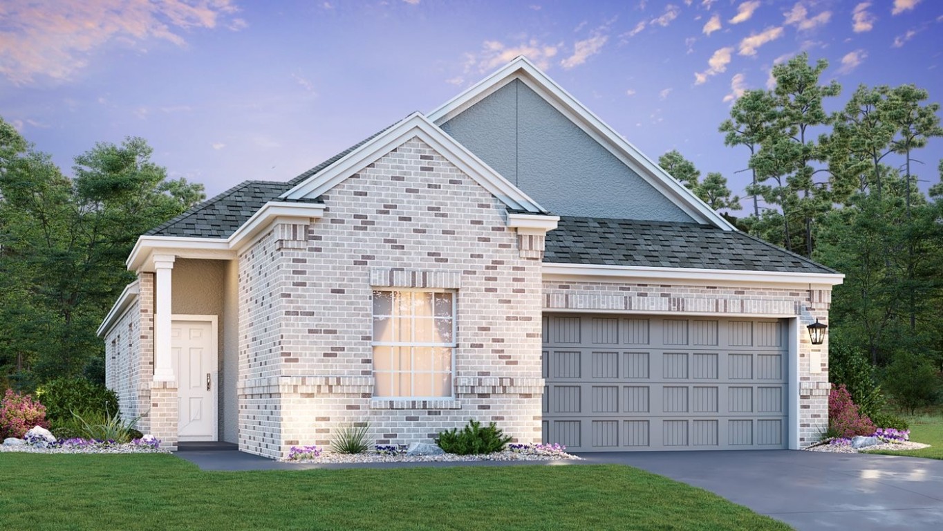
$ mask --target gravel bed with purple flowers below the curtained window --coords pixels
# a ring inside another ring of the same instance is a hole
[[[505,450],[491,454],[407,456],[407,447],[402,444],[381,444],[374,446],[372,451],[361,454],[339,454],[323,450],[317,446],[292,446],[289,457],[283,460],[291,463],[408,463],[428,461],[547,461],[580,458],[567,454],[566,448],[566,446],[560,444],[509,444]]]

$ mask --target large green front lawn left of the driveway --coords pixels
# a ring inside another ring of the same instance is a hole
[[[167,455],[0,454],[3,529],[789,529],[629,467],[201,472]]]

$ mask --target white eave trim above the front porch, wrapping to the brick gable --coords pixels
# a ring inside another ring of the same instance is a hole
[[[323,215],[324,205],[321,203],[271,201],[225,239],[140,236],[124,263],[127,269],[140,272],[153,268],[156,254],[181,258],[233,259],[242,247],[255,241],[273,222],[307,224],[312,218],[321,218]]]

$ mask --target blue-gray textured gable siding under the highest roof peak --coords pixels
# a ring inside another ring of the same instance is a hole
[[[554,214],[693,221],[519,80],[442,129]]]

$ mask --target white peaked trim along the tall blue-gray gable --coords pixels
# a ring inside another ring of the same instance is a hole
[[[567,116],[573,124],[583,129],[593,140],[603,145],[656,190],[665,193],[672,203],[684,210],[687,215],[700,222],[714,224],[723,230],[736,230],[736,227],[725,220],[720,213],[708,207],[701,198],[671,177],[635,145],[622,138],[609,124],[593,114],[570,92],[557,85],[553,79],[541,72],[526,58],[516,58],[507,63],[494,74],[488,75],[472,88],[430,112],[428,117],[434,123],[441,125],[465,108],[471,107],[474,102],[516,78],[521,79],[531,90],[538,92],[554,108]]]

